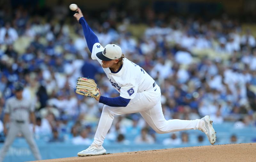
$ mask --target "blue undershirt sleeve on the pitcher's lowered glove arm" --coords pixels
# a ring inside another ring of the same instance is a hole
[[[126,107],[130,100],[120,96],[114,98],[100,96],[99,102],[111,107]]]

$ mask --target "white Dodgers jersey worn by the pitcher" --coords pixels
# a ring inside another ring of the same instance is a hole
[[[101,51],[104,51],[104,48],[100,43],[95,43],[92,48],[92,60],[97,59],[102,65],[101,60],[96,56],[96,53]],[[137,92],[152,89],[154,83],[153,78],[144,69],[126,58],[123,60],[123,66],[120,71],[112,73],[109,68],[103,68],[103,70],[112,86],[123,98],[133,99]]]

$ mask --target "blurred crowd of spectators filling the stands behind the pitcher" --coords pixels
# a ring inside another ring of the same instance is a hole
[[[181,17],[151,7],[131,13],[113,6],[95,14],[98,18],[83,8],[82,12],[102,46],[120,45],[126,58],[155,79],[167,120],[210,115],[214,123],[255,127],[256,41],[250,29],[242,32],[239,20],[226,14]],[[75,87],[80,76],[89,77],[101,95],[119,94],[98,62],[91,60],[74,13],[61,4],[51,13],[31,14],[22,6],[0,12],[0,108],[3,112],[13,84],[20,81],[25,85],[23,96],[36,107],[36,139],[91,144],[103,105],[77,95],[69,85]],[[140,114],[116,116],[106,141],[129,144],[133,141],[125,139],[127,134],[135,143],[157,142]],[[186,141],[184,132],[161,142]]]

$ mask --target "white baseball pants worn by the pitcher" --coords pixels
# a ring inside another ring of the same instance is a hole
[[[180,130],[198,129],[200,119],[196,120],[165,120],[161,106],[161,90],[158,85],[149,91],[138,92],[136,96],[130,100],[126,107],[111,107],[104,105],[99,125],[94,136],[93,143],[98,146],[103,141],[110,129],[114,116],[121,114],[131,114],[140,112],[145,121],[157,133],[170,133]]]

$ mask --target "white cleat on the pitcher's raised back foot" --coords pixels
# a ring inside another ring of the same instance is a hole
[[[204,116],[201,120],[203,121],[203,126],[202,128],[198,128],[198,130],[202,130],[208,137],[210,143],[214,144],[216,142],[216,132],[212,127],[210,116]]]

